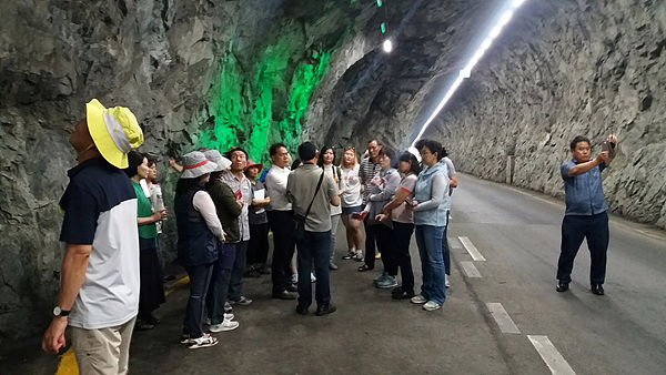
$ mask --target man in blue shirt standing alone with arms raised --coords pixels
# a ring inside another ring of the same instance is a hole
[[[615,158],[617,138],[608,135],[604,150],[589,159],[589,140],[578,135],[571,143],[573,159],[561,166],[566,195],[562,222],[562,246],[557,263],[557,292],[568,291],[574,259],[584,239],[589,247],[592,293],[604,295],[606,252],[608,250],[608,206],[604,199],[602,171]]]

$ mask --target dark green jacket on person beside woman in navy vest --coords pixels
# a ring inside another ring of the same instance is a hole
[[[226,233],[226,242],[235,243],[241,241],[241,231],[239,229],[241,206],[236,203],[235,194],[231,188],[224,182],[215,180],[206,183],[205,190],[213,199],[213,203],[215,203],[218,217],[220,217],[222,229]]]

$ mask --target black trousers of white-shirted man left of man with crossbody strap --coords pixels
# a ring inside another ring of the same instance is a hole
[[[281,293],[291,285],[291,259],[294,256],[296,242],[294,232],[293,211],[269,211],[269,225],[273,231],[273,262],[271,280],[273,293]]]

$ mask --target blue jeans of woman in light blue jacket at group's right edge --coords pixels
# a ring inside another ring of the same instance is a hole
[[[444,226],[416,225],[416,245],[423,271],[421,295],[438,304],[443,304],[446,300],[444,260],[442,259],[443,235]]]

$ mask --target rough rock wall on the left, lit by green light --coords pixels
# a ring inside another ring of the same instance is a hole
[[[241,144],[265,159],[266,144],[300,141],[331,54],[354,40],[341,20],[373,11],[356,1],[0,2],[0,351],[39,335],[57,301],[57,202],[88,100],[132,109],[140,151],[162,156],[167,186],[176,176],[165,156],[196,146]]]

